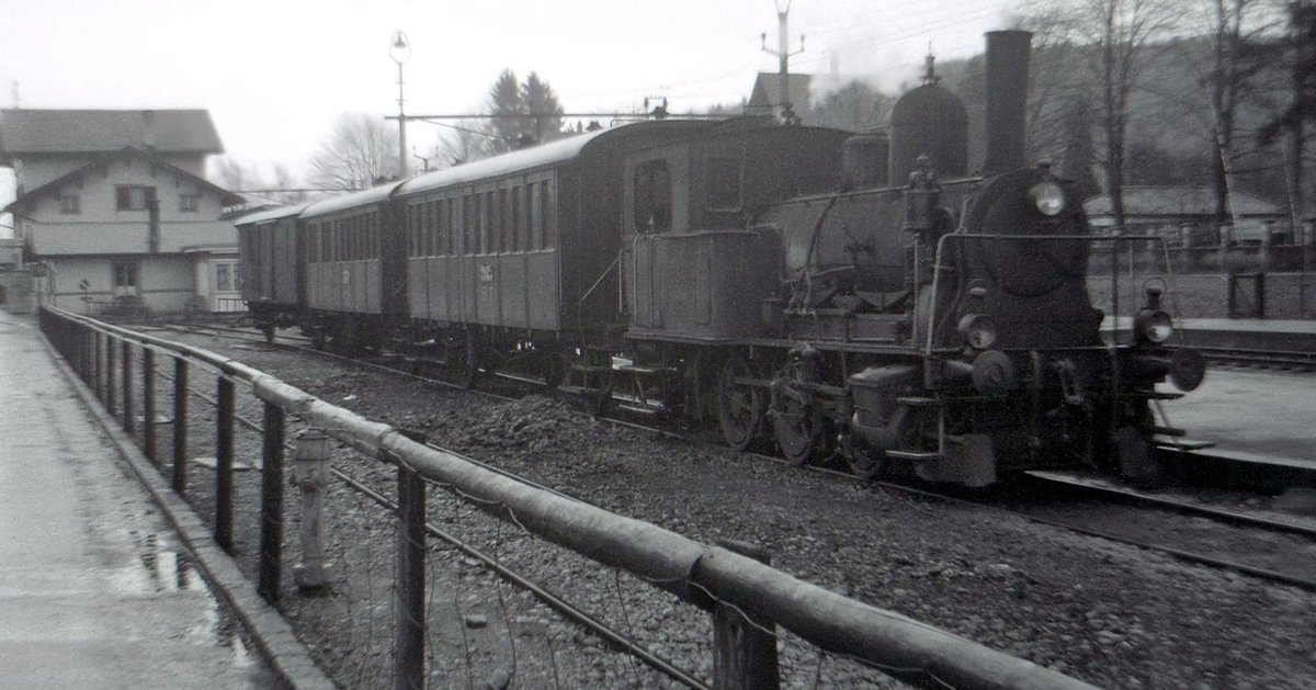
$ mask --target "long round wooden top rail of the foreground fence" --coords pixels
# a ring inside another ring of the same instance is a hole
[[[900,614],[804,582],[732,550],[555,495],[480,467],[405,432],[326,403],[275,377],[200,348],[45,308],[99,332],[170,350],[247,382],[262,402],[333,438],[405,466],[501,520],[596,562],[625,569],[701,607],[729,604],[774,622],[821,649],[924,686],[1090,689],[1092,686]]]

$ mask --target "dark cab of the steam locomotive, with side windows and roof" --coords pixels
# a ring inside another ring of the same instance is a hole
[[[782,237],[749,219],[774,199],[834,188],[844,132],[728,121],[626,157],[622,292],[628,337],[733,342],[761,336]]]

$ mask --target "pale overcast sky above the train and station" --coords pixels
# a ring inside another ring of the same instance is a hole
[[[787,0],[778,0],[786,7]],[[899,84],[932,42],[979,53],[1011,0],[794,0],[791,71]],[[396,113],[395,30],[412,43],[408,113],[480,108],[497,74],[537,71],[569,111],[740,103],[775,71],[772,0],[0,0],[0,105],[205,108],[229,155],[295,174],[343,112]],[[408,125],[426,147],[437,129]],[[415,163],[415,161],[413,161]]]

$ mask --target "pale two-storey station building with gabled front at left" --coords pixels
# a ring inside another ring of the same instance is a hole
[[[36,300],[80,313],[237,311],[242,198],[204,178],[222,153],[211,116],[0,111],[14,238]]]

